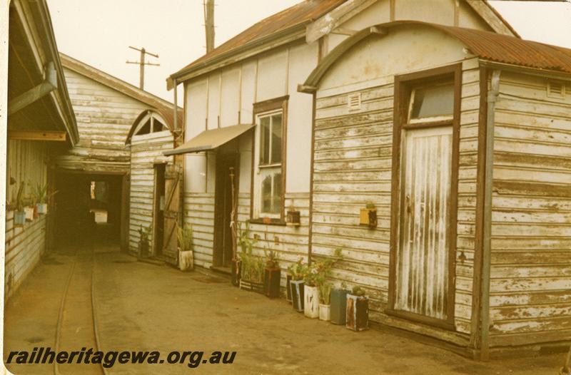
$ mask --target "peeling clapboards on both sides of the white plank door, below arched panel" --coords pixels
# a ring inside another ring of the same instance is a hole
[[[390,191],[393,148],[393,78],[382,86],[360,91],[335,89],[333,96],[318,93],[313,166],[312,254],[333,255],[333,282],[358,284],[370,297],[370,319],[390,320],[388,304]],[[361,109],[349,111],[349,93],[360,93]],[[458,181],[455,327],[470,333],[475,248],[477,123],[479,71],[465,64],[460,108],[460,169]],[[359,225],[359,209],[373,202],[378,227]],[[464,230],[466,229],[466,230]],[[458,259],[458,256],[457,256]],[[443,286],[445,287],[445,286]]]

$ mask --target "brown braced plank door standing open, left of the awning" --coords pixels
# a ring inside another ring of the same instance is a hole
[[[181,168],[175,164],[168,164],[166,166],[164,180],[165,205],[163,211],[163,257],[167,262],[176,264],[178,260],[178,241],[176,238],[176,230],[182,217]]]

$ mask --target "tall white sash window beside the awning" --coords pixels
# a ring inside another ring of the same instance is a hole
[[[283,212],[283,109],[256,115],[254,212],[279,219]]]

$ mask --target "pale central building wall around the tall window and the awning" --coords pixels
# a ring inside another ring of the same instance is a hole
[[[253,103],[289,96],[285,177],[285,207],[294,205],[301,212],[300,227],[251,225],[260,241],[255,252],[276,250],[285,269],[299,257],[307,260],[311,120],[313,99],[298,93],[318,61],[317,43],[293,44],[259,58],[196,78],[186,83],[186,133],[189,140],[206,129],[253,122]],[[238,116],[239,114],[239,116]],[[251,134],[239,140],[240,181],[238,220],[250,218]],[[186,222],[193,225],[195,262],[210,267],[213,262],[214,191],[216,153],[186,156]],[[285,277],[285,272],[283,272]],[[283,280],[285,286],[285,279]]]

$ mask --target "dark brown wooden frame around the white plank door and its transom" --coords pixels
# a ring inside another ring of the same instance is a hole
[[[454,80],[454,111],[451,123],[434,123],[433,126],[452,125],[452,175],[450,178],[450,216],[447,226],[448,242],[448,306],[446,319],[427,317],[422,314],[395,310],[396,300],[396,267],[397,255],[400,244],[400,212],[401,212],[401,173],[400,163],[402,160],[401,146],[402,133],[408,123],[408,109],[410,105],[410,93],[413,86],[418,86],[431,81],[440,81],[445,78]],[[389,255],[389,285],[388,285],[388,309],[386,314],[413,320],[423,324],[455,331],[455,293],[456,293],[456,240],[458,227],[458,173],[459,173],[459,150],[460,150],[460,105],[462,100],[462,63],[450,66],[428,69],[415,73],[395,76],[395,94],[393,106],[393,167],[391,184],[390,205],[390,255]]]

